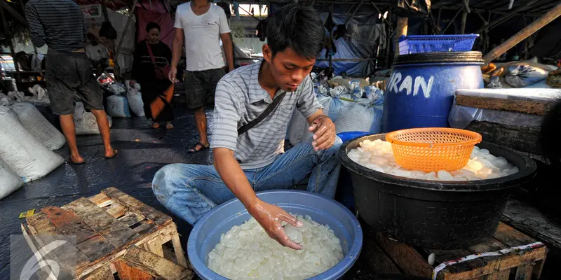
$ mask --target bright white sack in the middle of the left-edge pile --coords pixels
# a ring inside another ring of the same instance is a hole
[[[23,181],[40,179],[65,162],[29,134],[8,107],[0,107],[0,158]]]

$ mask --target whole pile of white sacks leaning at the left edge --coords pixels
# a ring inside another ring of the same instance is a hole
[[[0,106],[0,199],[62,165],[65,137],[33,104]]]

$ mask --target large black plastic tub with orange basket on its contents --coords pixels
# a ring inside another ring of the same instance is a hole
[[[351,174],[356,209],[375,230],[414,246],[465,248],[492,237],[508,200],[508,188],[534,178],[534,160],[506,148],[481,143],[490,153],[506,158],[520,172],[478,181],[423,181],[376,172],[353,162],[347,153],[365,140],[347,141],[339,153]]]

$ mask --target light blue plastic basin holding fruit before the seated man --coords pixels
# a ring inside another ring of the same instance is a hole
[[[356,262],[363,246],[363,230],[351,211],[339,202],[299,190],[270,190],[257,193],[257,197],[292,214],[309,215],[313,221],[329,225],[341,240],[345,258],[310,279],[339,279]],[[250,218],[243,204],[234,199],[212,209],[196,223],[187,241],[187,254],[198,276],[205,280],[226,279],[206,266],[208,253],[218,244],[222,233]]]

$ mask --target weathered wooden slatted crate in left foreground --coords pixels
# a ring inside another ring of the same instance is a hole
[[[44,207],[26,219],[22,232],[34,252],[45,246],[41,235],[76,237],[76,279],[114,279],[114,274],[119,279],[194,276],[172,219],[116,188],[63,207]],[[173,248],[173,255],[164,258],[168,247]],[[48,266],[43,269],[49,273]],[[64,264],[61,269],[73,270]]]

